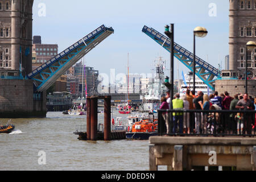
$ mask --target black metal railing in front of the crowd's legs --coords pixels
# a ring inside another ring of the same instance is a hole
[[[158,133],[255,137],[255,116],[255,110],[158,110]]]

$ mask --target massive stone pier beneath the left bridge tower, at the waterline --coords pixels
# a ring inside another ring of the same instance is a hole
[[[32,80],[0,79],[0,118],[46,117],[46,92],[34,93]]]

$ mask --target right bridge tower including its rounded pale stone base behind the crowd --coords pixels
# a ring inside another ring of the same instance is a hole
[[[256,41],[256,0],[229,0],[229,70],[215,89],[224,93],[245,93],[246,43]],[[256,77],[256,51],[247,51],[247,76]],[[238,79],[240,78],[240,79]],[[256,96],[256,80],[248,80],[248,93]]]

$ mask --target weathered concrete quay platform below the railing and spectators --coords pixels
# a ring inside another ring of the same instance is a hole
[[[205,166],[256,171],[256,138],[150,137],[149,142],[151,171],[158,166],[176,171]]]

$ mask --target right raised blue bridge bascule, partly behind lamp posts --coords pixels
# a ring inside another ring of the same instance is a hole
[[[147,26],[143,27],[142,32],[150,36],[151,39],[155,40],[156,43],[168,52],[171,52],[171,40],[169,38],[160,34],[154,28],[149,28]],[[189,52],[184,47],[181,47],[179,44],[174,43],[174,56],[193,72],[193,53]],[[196,76],[204,81],[210,89],[214,90],[214,81],[219,76],[219,72],[217,68],[214,68],[212,65],[196,56]]]

